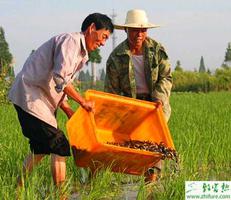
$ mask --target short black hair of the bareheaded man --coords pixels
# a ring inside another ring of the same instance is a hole
[[[82,23],[81,31],[86,31],[92,23],[95,24],[96,30],[105,28],[106,30],[109,30],[110,33],[113,33],[114,31],[114,26],[111,19],[107,15],[101,13],[93,13],[88,15]]]

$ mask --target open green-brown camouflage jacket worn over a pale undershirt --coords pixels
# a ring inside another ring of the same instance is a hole
[[[143,47],[144,73],[152,100],[161,100],[168,120],[171,114],[169,96],[172,75],[168,55],[163,46],[147,38]],[[106,64],[105,91],[136,98],[134,66],[127,39],[111,53]]]

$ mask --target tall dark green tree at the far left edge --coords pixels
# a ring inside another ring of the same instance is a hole
[[[11,74],[12,58],[8,43],[5,39],[5,32],[3,28],[0,27],[0,74],[4,77]]]

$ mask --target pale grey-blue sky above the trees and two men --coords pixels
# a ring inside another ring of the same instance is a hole
[[[114,10],[115,22],[124,24],[131,9],[145,10],[151,23],[161,25],[148,35],[166,48],[173,70],[177,60],[192,71],[198,70],[201,56],[210,71],[224,61],[231,42],[230,0],[0,0],[0,26],[18,73],[33,49],[60,33],[79,32],[87,15],[110,17]],[[114,34],[117,45],[126,38],[124,31]],[[99,69],[105,68],[111,51],[109,38],[100,49]]]

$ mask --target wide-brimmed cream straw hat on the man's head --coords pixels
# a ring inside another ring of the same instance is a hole
[[[157,28],[159,25],[148,22],[148,17],[144,10],[129,10],[124,25],[114,24],[115,29],[124,28]]]

